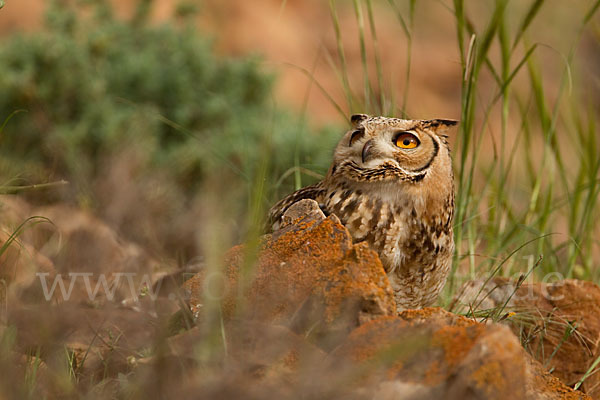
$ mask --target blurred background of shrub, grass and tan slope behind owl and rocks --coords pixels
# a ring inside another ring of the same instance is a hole
[[[453,277],[597,281],[597,8],[7,1],[3,190],[87,210],[166,264],[218,263],[326,173],[351,113],[454,118]]]

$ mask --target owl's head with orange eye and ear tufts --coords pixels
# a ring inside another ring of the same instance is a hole
[[[446,119],[405,120],[351,117],[352,129],[338,143],[330,173],[356,182],[417,183],[434,171],[451,174],[443,133],[457,124]]]

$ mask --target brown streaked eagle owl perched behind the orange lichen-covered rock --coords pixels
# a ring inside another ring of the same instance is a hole
[[[313,199],[355,242],[379,254],[398,310],[433,304],[450,269],[454,177],[447,136],[456,121],[351,117],[325,179],[279,201],[277,229],[293,203]]]

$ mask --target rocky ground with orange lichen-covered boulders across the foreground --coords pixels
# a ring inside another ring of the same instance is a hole
[[[312,201],[197,273],[81,210],[1,202],[0,398],[600,398],[589,282],[473,281],[454,313],[396,314],[377,255]]]

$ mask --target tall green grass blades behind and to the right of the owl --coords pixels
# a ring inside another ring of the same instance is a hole
[[[542,280],[578,277],[598,282],[598,97],[587,92],[587,85],[594,85],[590,82],[596,82],[597,92],[598,76],[584,75],[586,50],[581,43],[583,38],[598,43],[593,27],[599,4],[581,4],[575,33],[550,35],[553,42],[547,42],[547,21],[558,11],[544,0],[495,0],[479,4],[481,8],[455,0],[444,6],[455,21],[462,71],[461,111],[456,116],[461,122],[453,135],[456,253],[444,303],[465,279],[518,278],[532,269],[530,276]],[[374,5],[364,0],[353,6],[362,90],[351,85],[337,16],[340,6],[330,2],[338,43],[334,68],[345,108],[405,116],[410,109],[411,53],[419,51],[412,46],[414,27],[427,23],[419,20],[419,4],[377,4],[397,17],[404,34],[406,82],[401,95],[382,84],[387,71],[381,72]],[[368,36],[364,20],[369,21]],[[403,99],[399,104],[398,98]]]

